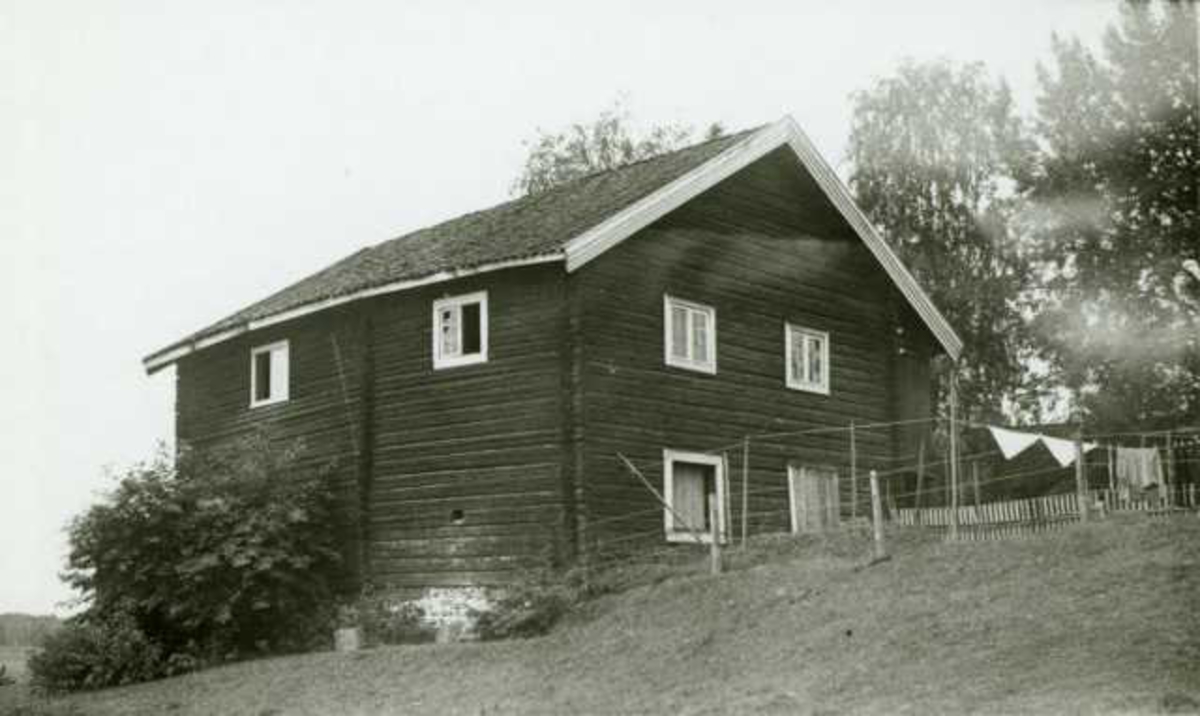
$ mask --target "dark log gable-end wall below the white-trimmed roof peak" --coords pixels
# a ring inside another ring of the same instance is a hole
[[[583,305],[581,517],[593,548],[640,533],[662,541],[661,512],[648,510],[648,491],[618,451],[661,488],[662,449],[726,446],[736,531],[744,435],[888,422],[928,409],[928,398],[922,405],[913,397],[928,395],[928,371],[907,371],[901,395],[894,359],[898,336],[918,360],[928,357],[930,333],[788,156],[718,185],[572,281]],[[715,375],[665,365],[664,293],[716,309]],[[829,332],[832,395],[786,387],[785,321]],[[889,427],[864,428],[857,441],[863,516],[866,471],[894,464],[901,439]],[[835,467],[851,512],[846,431],[752,439],[751,531],[788,528],[788,462]]]

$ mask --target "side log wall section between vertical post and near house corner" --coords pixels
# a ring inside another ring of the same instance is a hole
[[[514,269],[373,306],[371,556],[379,582],[499,584],[559,556],[564,278],[558,264]],[[482,289],[488,361],[434,371],[432,302]]]

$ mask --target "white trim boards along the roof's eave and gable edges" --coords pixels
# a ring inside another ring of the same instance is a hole
[[[905,299],[907,299],[930,332],[934,333],[946,353],[956,360],[962,351],[962,341],[954,332],[954,329],[950,327],[946,318],[934,306],[934,302],[922,290],[920,285],[917,284],[917,279],[904,266],[899,257],[875,231],[871,222],[854,204],[850,195],[850,189],[838,179],[826,161],[821,158],[821,155],[817,154],[812,143],[809,142],[799,125],[796,124],[796,120],[791,116],[785,116],[748,136],[700,167],[610,216],[595,227],[570,239],[565,243],[563,252],[496,261],[468,269],[439,271],[420,278],[395,281],[341,296],[320,299],[263,318],[247,320],[210,336],[173,344],[146,356],[143,360],[143,366],[146,373],[155,373],[191,353],[222,343],[248,331],[310,315],[326,308],[349,303],[350,301],[454,281],[464,276],[478,276],[480,273],[517,266],[558,261],[565,264],[569,273],[575,272],[588,261],[619,245],[641,229],[784,145],[787,145],[792,150],[800,166],[816,180],[817,186],[826,193],[834,207],[838,209],[846,222],[859,235],[863,243],[866,245],[866,248],[880,261],[880,265],[883,266],[883,270]]]

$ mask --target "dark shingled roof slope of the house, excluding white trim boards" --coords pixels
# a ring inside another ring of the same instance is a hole
[[[360,249],[175,343],[298,306],[450,270],[559,253],[596,223],[683,176],[754,130],[695,144],[418,229]],[[169,350],[169,348],[167,349]]]

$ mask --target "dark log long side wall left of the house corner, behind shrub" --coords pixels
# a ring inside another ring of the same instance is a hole
[[[560,265],[514,269],[203,350],[179,363],[178,437],[205,446],[262,427],[302,437],[312,464],[337,461],[356,578],[392,588],[503,583],[563,556],[564,278]],[[433,371],[432,302],[481,289],[488,361]],[[281,338],[290,341],[290,399],[251,409],[250,350]]]

